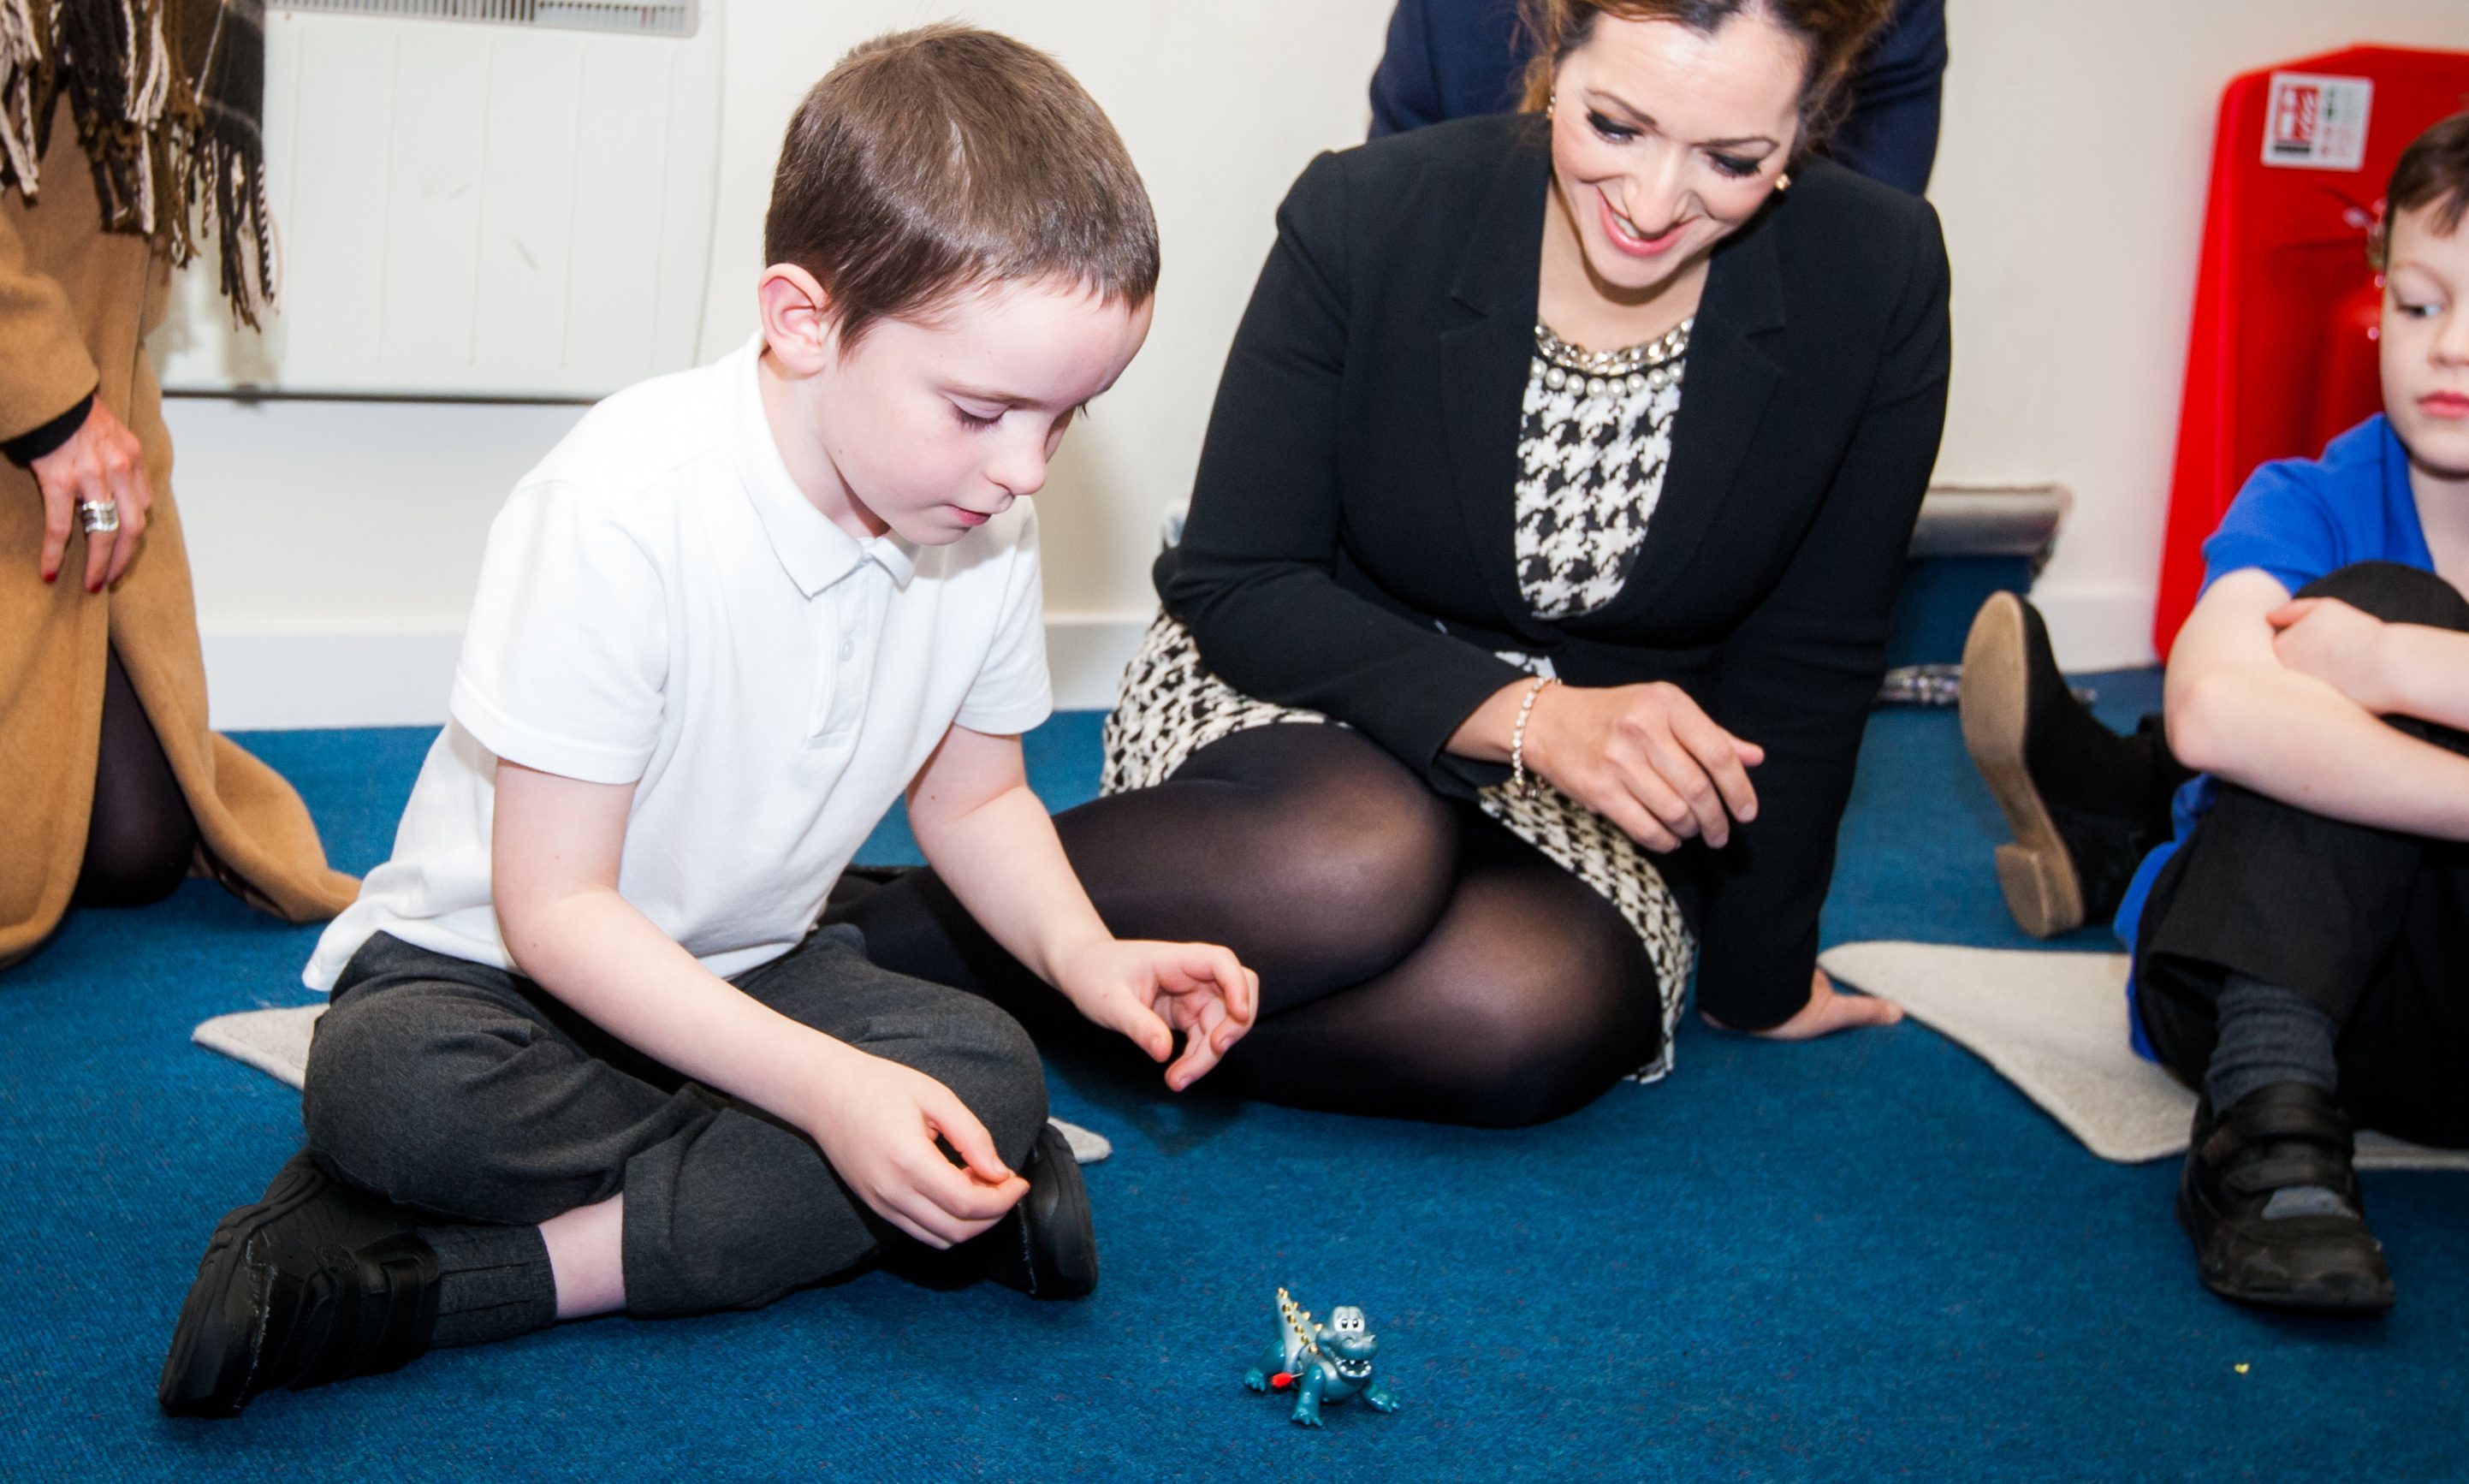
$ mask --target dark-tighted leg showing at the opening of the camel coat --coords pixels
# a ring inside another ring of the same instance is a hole
[[[104,672],[104,741],[77,906],[146,906],[170,896],[198,854],[198,817],[114,652]]]

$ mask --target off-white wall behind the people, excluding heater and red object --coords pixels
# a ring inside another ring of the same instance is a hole
[[[704,351],[753,328],[780,128],[867,35],[956,0],[726,0]],[[1272,237],[1318,148],[1363,136],[1390,0],[978,0],[1059,54],[1158,202],[1148,348],[1072,432],[1039,511],[1067,704],[1106,704],[1153,605],[1158,514]],[[2353,40],[2469,44],[2462,0],[1951,0],[1931,198],[1955,259],[1955,393],[1938,479],[2064,484],[2042,578],[2069,664],[2150,657],[2212,111],[2237,72]],[[479,543],[575,407],[178,400],[180,501],[222,726],[435,721]]]

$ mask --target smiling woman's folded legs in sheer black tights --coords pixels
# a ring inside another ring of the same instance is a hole
[[[1225,943],[1259,973],[1259,1025],[1210,1074],[1230,1091],[1509,1128],[1657,1052],[1654,963],[1620,911],[1341,726],[1234,733],[1054,827],[1114,933]],[[830,916],[884,968],[1084,1025],[933,872]]]

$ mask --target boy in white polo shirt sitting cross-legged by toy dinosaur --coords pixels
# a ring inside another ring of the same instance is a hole
[[[1225,948],[1106,933],[1020,758],[1052,699],[1015,501],[1158,274],[1121,138],[1017,42],[881,37],[797,109],[765,259],[751,346],[595,407],[491,528],[452,723],[306,970],[309,1151],[215,1230],[165,1412],[916,1244],[1086,1294],[1027,1035],[815,926],[901,790],[1170,1086],[1249,1027]]]

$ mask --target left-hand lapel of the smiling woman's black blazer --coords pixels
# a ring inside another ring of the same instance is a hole
[[[1536,281],[1543,272],[1543,200],[1551,153],[1523,131],[1501,160],[1491,193],[1467,232],[1449,299],[1457,323],[1439,331],[1442,435],[1449,486],[1467,528],[1474,568],[1511,630],[1555,644],[1518,590],[1516,481],[1526,370],[1533,361]]]

